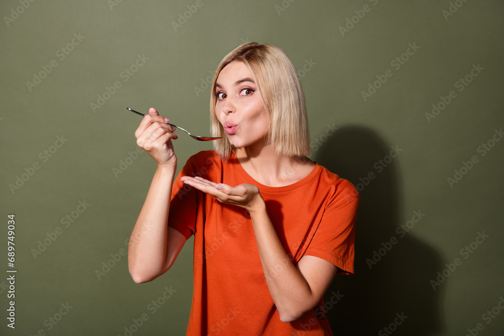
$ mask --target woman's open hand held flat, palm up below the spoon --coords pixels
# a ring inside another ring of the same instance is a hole
[[[215,183],[201,177],[191,176],[182,176],[180,180],[214,196],[219,202],[239,206],[249,212],[261,205],[261,202],[264,204],[259,188],[254,184],[243,183],[232,187],[228,184]]]

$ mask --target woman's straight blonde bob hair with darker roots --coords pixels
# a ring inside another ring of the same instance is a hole
[[[224,57],[217,68],[210,98],[210,121],[215,151],[227,160],[233,147],[224,127],[215,115],[215,83],[221,70],[233,61],[248,66],[260,92],[270,123],[266,132],[267,144],[274,144],[278,155],[307,156],[310,154],[308,118],[304,93],[297,70],[285,52],[270,44],[249,42],[240,45]]]

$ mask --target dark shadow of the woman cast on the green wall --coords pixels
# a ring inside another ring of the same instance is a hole
[[[314,153],[314,161],[348,179],[360,193],[355,274],[337,275],[325,295],[335,335],[431,335],[444,329],[439,307],[443,286],[434,291],[430,285],[443,262],[414,236],[423,209],[405,209],[411,216],[398,218],[402,190],[393,156],[401,152],[392,145],[370,129],[344,127]],[[371,172],[374,178],[366,180]],[[339,301],[337,294],[343,295]]]

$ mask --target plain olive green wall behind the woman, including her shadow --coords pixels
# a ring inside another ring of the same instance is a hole
[[[257,41],[299,69],[311,158],[361,193],[356,274],[336,277],[326,295],[335,334],[502,335],[503,10],[495,0],[3,1],[0,251],[15,214],[15,267],[2,267],[18,272],[16,329],[6,326],[0,278],[0,334],[184,333],[193,239],[148,284],[132,281],[120,254],[155,171],[135,154],[141,119],[125,108],[155,106],[209,134],[207,78],[229,51]],[[211,149],[178,135],[179,169]],[[434,290],[438,272],[448,277]],[[153,300],[163,304],[154,310]]]

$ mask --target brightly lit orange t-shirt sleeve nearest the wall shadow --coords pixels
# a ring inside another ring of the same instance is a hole
[[[344,192],[326,205],[319,227],[304,255],[331,262],[338,267],[338,274],[353,274],[358,205],[359,194],[348,182]]]

